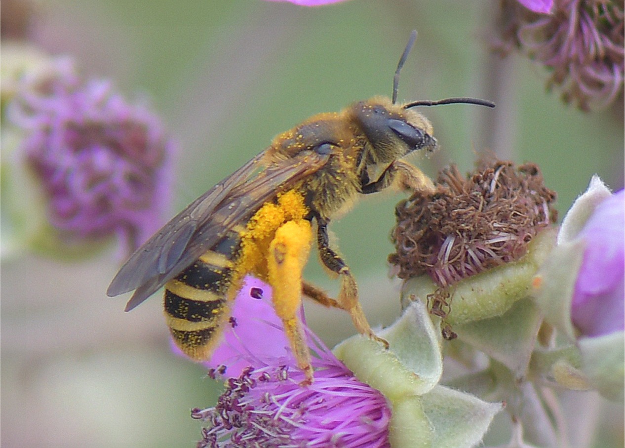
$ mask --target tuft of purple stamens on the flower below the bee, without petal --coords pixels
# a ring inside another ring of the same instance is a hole
[[[198,447],[388,447],[389,405],[336,359],[317,359],[315,382],[297,368],[244,369],[217,405],[194,409],[211,426]]]

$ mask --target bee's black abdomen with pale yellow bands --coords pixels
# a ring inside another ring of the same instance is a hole
[[[220,325],[229,317],[227,294],[241,245],[231,231],[211,250],[165,285],[165,317],[176,345],[195,360],[206,360]]]

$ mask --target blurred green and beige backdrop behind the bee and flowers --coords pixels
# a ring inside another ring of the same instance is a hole
[[[435,176],[451,161],[470,170],[484,152],[532,161],[557,191],[561,216],[594,173],[622,188],[622,104],[582,113],[546,93],[541,67],[517,55],[492,56],[497,2],[36,4],[37,44],[71,54],[83,73],[113,79],[130,97],[151,98],[180,145],[176,210],[308,116],[390,95],[412,29],[419,36],[402,71],[400,101],[479,96],[497,103],[494,110],[421,109],[441,143],[431,158],[411,160],[426,173]],[[401,197],[368,198],[332,225],[372,325],[400,312],[399,282],[388,278],[386,257]],[[169,352],[159,298],[124,313],[124,298],[106,297],[118,267],[113,250],[79,264],[36,256],[2,262],[2,447],[184,447],[199,439],[189,409],[214,404],[217,387],[201,367]],[[306,275],[336,293],[315,257]],[[354,333],[341,312],[309,304],[307,318],[330,346]],[[606,406],[589,394],[564,397],[572,406],[582,399]],[[599,415],[605,440],[595,446],[614,437],[622,445],[622,410],[607,406]],[[505,440],[500,420],[492,444]],[[572,420],[572,434],[583,430]]]

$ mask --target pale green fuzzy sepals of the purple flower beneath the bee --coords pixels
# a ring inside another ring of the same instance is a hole
[[[393,448],[461,448],[479,444],[501,403],[439,385],[439,331],[426,306],[411,303],[396,323],[377,332],[389,350],[361,335],[334,349],[356,377],[391,402],[389,439]]]

